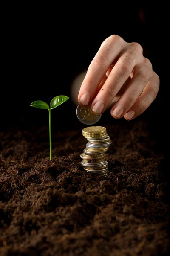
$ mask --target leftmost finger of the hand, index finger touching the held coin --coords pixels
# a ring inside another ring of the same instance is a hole
[[[78,95],[80,104],[88,105],[92,102],[99,84],[115,58],[121,52],[123,44],[125,44],[125,41],[118,35],[111,35],[103,42],[82,82]]]

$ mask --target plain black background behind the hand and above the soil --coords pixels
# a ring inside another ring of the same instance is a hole
[[[74,78],[88,68],[102,41],[112,34],[141,44],[144,56],[158,73],[159,94],[141,116],[160,125],[166,93],[160,4],[101,3],[9,6],[3,21],[1,129],[48,125],[48,111],[30,107],[31,102],[49,104],[54,96],[70,96]],[[100,124],[104,121],[119,122],[109,111],[102,115]],[[71,99],[52,111],[52,125],[55,129],[79,125]]]

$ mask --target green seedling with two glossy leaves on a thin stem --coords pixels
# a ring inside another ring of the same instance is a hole
[[[68,100],[68,96],[60,95],[57,97],[54,97],[54,99],[50,102],[50,107],[46,102],[43,102],[41,100],[36,100],[31,103],[31,107],[34,108],[41,108],[41,109],[48,109],[49,112],[49,135],[50,135],[50,160],[52,160],[52,143],[51,143],[51,109],[58,107],[62,103],[66,102]]]

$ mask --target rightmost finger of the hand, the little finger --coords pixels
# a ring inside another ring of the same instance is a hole
[[[154,101],[159,91],[159,76],[153,71],[153,76],[150,78],[143,92],[125,114],[126,120],[132,120],[142,114]]]

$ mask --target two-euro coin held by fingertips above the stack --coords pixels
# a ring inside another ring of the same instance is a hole
[[[77,106],[77,117],[78,119],[85,125],[94,125],[96,122],[98,122],[102,116],[102,114],[95,114],[91,110],[91,105],[88,106]]]

